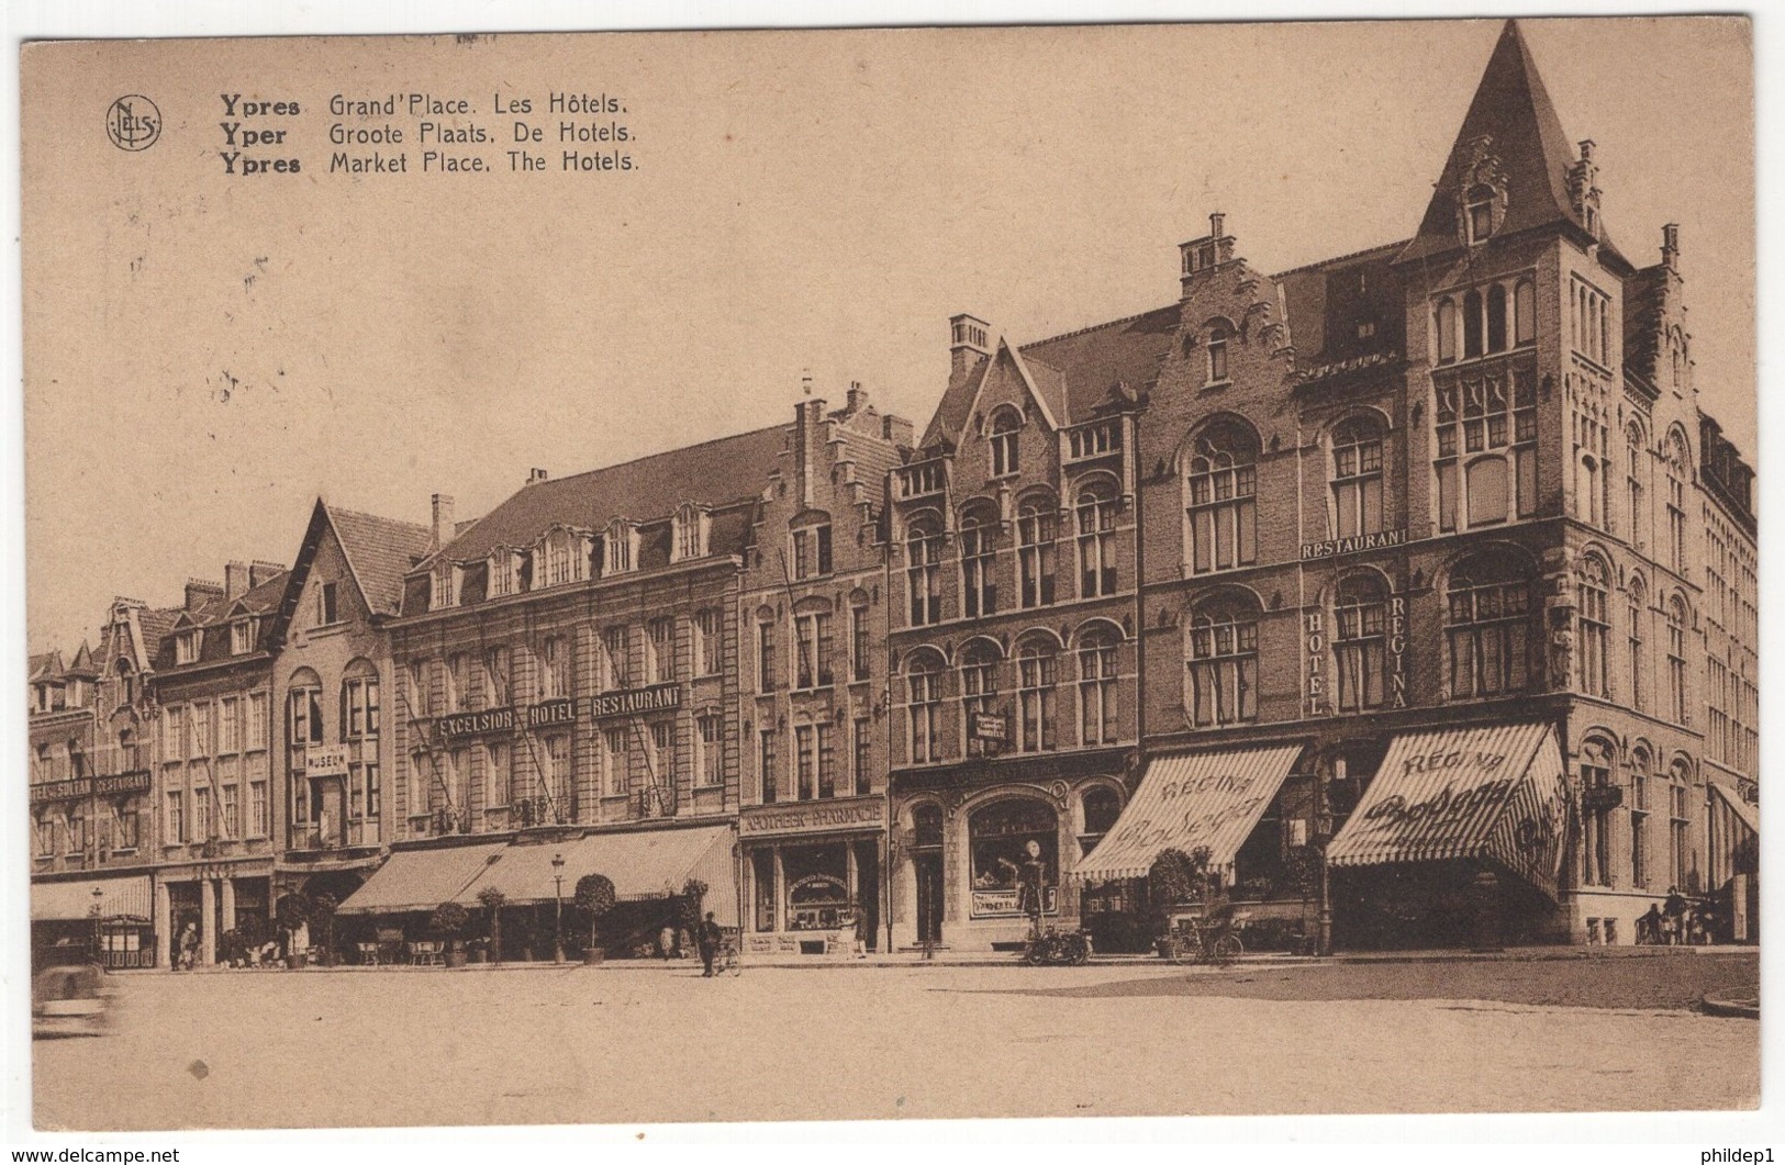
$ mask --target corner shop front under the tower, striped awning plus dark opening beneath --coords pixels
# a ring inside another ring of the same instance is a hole
[[[1567,797],[1548,724],[1398,735],[1326,851],[1337,946],[1553,937]]]

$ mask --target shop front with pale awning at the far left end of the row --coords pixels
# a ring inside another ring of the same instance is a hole
[[[148,874],[32,880],[32,971],[95,956],[111,971],[152,967],[152,901]]]

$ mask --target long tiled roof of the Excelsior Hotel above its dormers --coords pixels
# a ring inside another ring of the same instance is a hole
[[[536,482],[448,542],[443,555],[466,562],[487,557],[496,546],[530,546],[557,523],[600,530],[614,517],[641,523],[668,517],[684,501],[726,505],[750,500],[762,492],[768,471],[785,444],[787,426],[775,425],[555,482]],[[718,525],[710,544],[716,553],[726,553]]]

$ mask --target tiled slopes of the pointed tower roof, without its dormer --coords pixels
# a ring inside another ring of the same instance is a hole
[[[1562,132],[1562,120],[1549,103],[1542,77],[1537,75],[1519,21],[1508,20],[1432,191],[1432,202],[1426,203],[1419,234],[1401,252],[1403,262],[1460,246],[1457,194],[1474,157],[1474,145],[1483,137],[1490,139],[1487,150],[1499,157],[1507,178],[1507,218],[1496,234],[1549,223],[1582,225],[1567,191],[1567,175],[1574,164],[1569,137]],[[1608,250],[1617,250],[1603,230],[1601,241]]]

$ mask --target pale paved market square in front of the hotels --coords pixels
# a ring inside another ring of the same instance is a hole
[[[1696,979],[1708,988],[1751,978],[1751,956],[1494,967],[910,965],[748,969],[714,981],[637,965],[125,976],[114,1035],[36,1044],[36,1122],[277,1128],[1756,1103],[1760,1026],[1681,1006]],[[1446,972],[1478,997],[1433,996]],[[1619,1003],[1631,997],[1631,976],[1667,976],[1656,999],[1671,1010]]]

